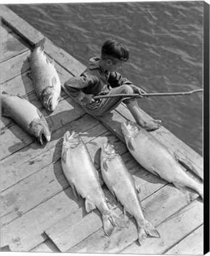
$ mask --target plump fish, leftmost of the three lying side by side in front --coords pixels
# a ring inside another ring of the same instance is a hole
[[[86,212],[96,208],[101,212],[107,236],[111,235],[115,227],[125,226],[124,220],[109,209],[88,149],[75,130],[67,131],[63,136],[62,169],[75,197],[85,199]]]

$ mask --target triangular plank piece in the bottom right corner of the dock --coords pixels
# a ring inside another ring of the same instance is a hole
[[[190,233],[165,254],[170,255],[203,255],[203,225]]]

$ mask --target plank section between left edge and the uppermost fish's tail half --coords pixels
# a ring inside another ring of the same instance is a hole
[[[0,84],[20,75],[26,71],[29,71],[30,65],[27,57],[30,56],[30,50],[21,53],[18,56],[12,57],[5,62],[0,63],[1,78]],[[9,71],[9,72],[8,72]]]

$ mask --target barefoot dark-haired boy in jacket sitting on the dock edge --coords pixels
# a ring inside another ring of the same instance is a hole
[[[94,100],[96,95],[141,94],[141,89],[117,72],[129,59],[128,48],[118,40],[107,40],[101,49],[101,57],[90,59],[88,68],[79,76],[70,78],[64,87],[69,94],[92,116],[109,113],[123,102],[135,121],[146,130],[156,130],[160,120],[145,120],[135,98],[103,98]]]

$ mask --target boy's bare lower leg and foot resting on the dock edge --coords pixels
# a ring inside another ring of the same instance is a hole
[[[156,130],[159,129],[161,126],[160,120],[146,120],[144,119],[143,115],[140,112],[140,108],[138,107],[137,100],[129,101],[125,103],[130,110],[131,114],[133,115],[137,124],[143,127],[146,130]]]

